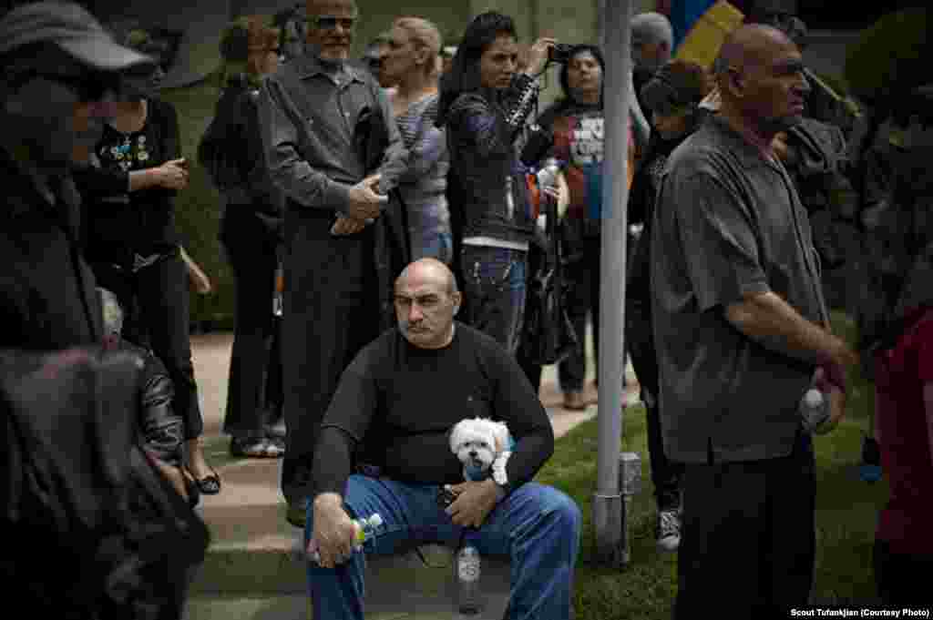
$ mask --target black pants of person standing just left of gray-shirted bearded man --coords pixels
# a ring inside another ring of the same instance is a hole
[[[224,433],[265,434],[265,386],[272,351],[272,297],[275,285],[274,241],[228,243],[236,282],[236,328],[230,353],[230,388]]]

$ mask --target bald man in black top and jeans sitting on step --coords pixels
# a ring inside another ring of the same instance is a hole
[[[470,538],[481,555],[511,558],[506,617],[569,618],[580,512],[561,491],[531,482],[554,449],[536,393],[493,338],[454,322],[462,296],[443,263],[411,263],[395,291],[397,328],[343,373],[314,451],[306,530],[320,555],[308,566],[314,617],[363,618],[364,559],[351,552],[351,519],[378,513],[384,526],[366,553],[455,544],[477,528]],[[450,429],[475,417],[506,422],[516,441],[503,486],[464,482],[451,452]],[[354,474],[358,461],[381,475]],[[437,503],[444,484],[457,496],[446,510]]]

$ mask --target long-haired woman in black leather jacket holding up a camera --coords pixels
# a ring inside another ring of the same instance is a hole
[[[466,323],[512,354],[520,339],[535,226],[516,140],[555,43],[538,39],[527,71],[516,73],[516,39],[506,15],[490,11],[474,19],[441,80],[438,114],[450,147],[448,196],[458,276],[468,299]]]

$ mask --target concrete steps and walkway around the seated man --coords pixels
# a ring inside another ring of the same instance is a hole
[[[221,433],[231,342],[230,334],[191,337],[205,454],[221,477],[222,489],[216,496],[202,497],[199,507],[212,543],[192,586],[187,620],[307,618],[305,566],[296,554],[302,532],[285,521],[285,500],[279,492],[281,461],[232,459],[230,439]],[[592,351],[592,346],[588,349]],[[631,390],[635,384],[631,365],[627,376]],[[585,411],[564,410],[556,367],[544,369],[541,400],[556,437],[596,415],[592,380],[587,381],[586,396],[591,405]],[[427,556],[435,568],[413,555],[368,558],[369,620],[456,617],[450,553],[429,547]],[[471,617],[498,620],[508,602],[508,562],[484,560],[480,579],[487,604],[483,613]]]

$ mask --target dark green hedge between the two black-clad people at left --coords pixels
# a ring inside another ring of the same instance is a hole
[[[191,324],[195,330],[231,329],[233,326],[233,276],[217,241],[220,196],[197,158],[198,142],[214,116],[219,95],[213,78],[161,93],[162,99],[173,103],[178,112],[182,155],[190,163],[190,183],[186,190],[179,192],[175,203],[178,229],[188,255],[201,265],[214,284],[214,292],[210,295],[191,294]]]

